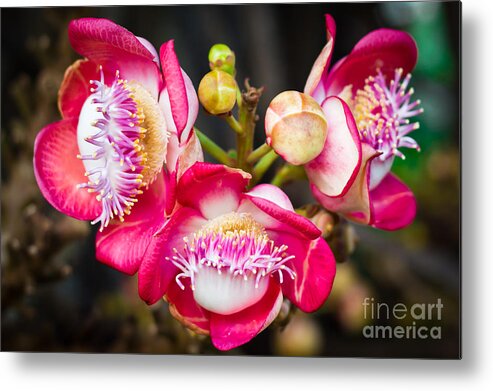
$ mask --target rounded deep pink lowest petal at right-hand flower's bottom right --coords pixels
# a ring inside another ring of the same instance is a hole
[[[371,225],[376,228],[401,229],[411,224],[416,216],[416,199],[412,191],[392,174],[370,192],[370,203]]]

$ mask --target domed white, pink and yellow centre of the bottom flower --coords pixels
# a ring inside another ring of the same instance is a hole
[[[269,278],[284,273],[295,278],[286,263],[294,258],[288,247],[277,247],[248,213],[228,213],[206,224],[167,260],[180,269],[176,283],[190,284],[195,301],[222,315],[239,312],[258,302]]]

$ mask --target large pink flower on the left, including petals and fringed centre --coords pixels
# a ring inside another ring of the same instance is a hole
[[[200,159],[191,132],[197,96],[173,41],[158,58],[145,39],[94,18],[73,20],[69,39],[85,58],[65,73],[62,120],[36,138],[36,180],[60,212],[101,223],[97,258],[133,274],[162,224],[167,171],[176,170],[183,151],[184,161]]]

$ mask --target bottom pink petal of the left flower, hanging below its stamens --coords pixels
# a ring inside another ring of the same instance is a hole
[[[138,197],[124,222],[114,220],[96,235],[96,258],[126,274],[134,274],[152,236],[163,225],[166,204],[164,174]]]

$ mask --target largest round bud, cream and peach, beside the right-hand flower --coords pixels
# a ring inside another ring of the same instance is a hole
[[[322,152],[327,120],[311,96],[284,91],[270,102],[265,115],[265,134],[268,145],[284,160],[298,166]]]

